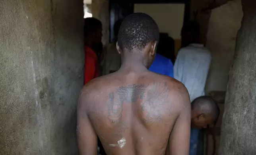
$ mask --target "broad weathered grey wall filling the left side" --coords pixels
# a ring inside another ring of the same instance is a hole
[[[75,155],[83,2],[1,0],[0,155]]]

